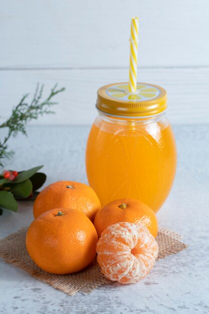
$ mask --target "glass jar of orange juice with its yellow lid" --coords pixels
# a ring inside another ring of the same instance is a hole
[[[86,172],[101,205],[138,199],[155,212],[176,170],[175,139],[166,117],[166,91],[157,85],[115,83],[98,90],[97,116],[87,142]]]

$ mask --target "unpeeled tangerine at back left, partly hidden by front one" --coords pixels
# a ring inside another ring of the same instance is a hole
[[[73,181],[58,181],[47,186],[34,202],[34,217],[54,208],[71,208],[82,211],[90,220],[101,209],[100,201],[92,188]]]

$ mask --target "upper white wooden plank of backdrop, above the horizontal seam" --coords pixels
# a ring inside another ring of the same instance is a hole
[[[139,65],[208,64],[208,0],[7,0],[0,67],[126,67],[132,15]]]

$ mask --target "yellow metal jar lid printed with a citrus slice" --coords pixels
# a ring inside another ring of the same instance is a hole
[[[137,83],[136,93],[129,93],[128,83],[113,83],[97,91],[97,108],[109,115],[150,117],[167,109],[166,90],[160,86]]]

